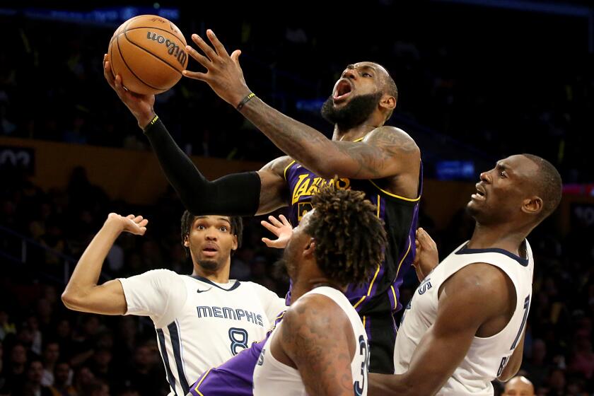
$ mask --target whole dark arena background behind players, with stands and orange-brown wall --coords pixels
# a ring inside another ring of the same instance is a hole
[[[150,320],[72,313],[59,299],[110,211],[151,223],[144,237],[117,241],[104,279],[191,271],[179,199],[103,80],[113,31],[142,13],[170,18],[187,39],[214,29],[228,50],[243,51],[252,91],[328,134],[319,108],[344,66],[385,65],[400,95],[390,124],[414,137],[424,160],[419,226],[441,255],[470,236],[462,208],[480,171],[522,152],[554,163],[564,199],[530,236],[535,298],[522,371],[539,395],[593,394],[590,1],[25,3],[0,4],[0,395],[15,381],[35,380],[28,367],[36,359],[47,378],[57,361],[69,363],[72,395],[167,391]],[[255,170],[280,154],[199,81],[182,79],[158,95],[156,111],[211,178]],[[260,242],[257,219],[245,220],[232,276],[283,295],[278,252]],[[415,286],[410,272],[404,304]]]

